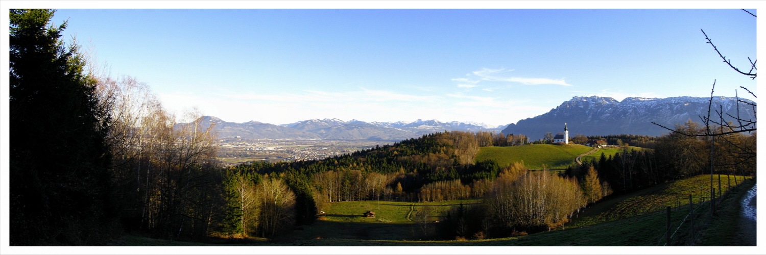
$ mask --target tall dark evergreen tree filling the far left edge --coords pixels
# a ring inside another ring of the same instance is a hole
[[[10,10],[10,244],[103,244],[110,202],[110,119],[54,10]],[[98,243],[96,243],[98,242]]]

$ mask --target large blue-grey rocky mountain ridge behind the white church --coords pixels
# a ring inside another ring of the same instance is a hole
[[[669,128],[677,123],[686,123],[689,119],[699,123],[699,116],[707,115],[709,100],[709,97],[676,96],[663,99],[627,97],[617,101],[611,97],[575,96],[548,113],[510,124],[502,132],[540,139],[545,136],[545,132],[556,134],[563,131],[564,123],[567,123],[570,136],[578,133],[585,136],[661,136],[669,131],[652,122]],[[752,103],[750,100],[743,101]],[[719,106],[722,106],[725,113],[736,116],[736,98],[713,97],[713,109],[718,110]],[[755,119],[753,109],[744,103],[740,103],[739,113],[745,119]]]

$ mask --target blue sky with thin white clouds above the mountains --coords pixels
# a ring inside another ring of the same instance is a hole
[[[700,31],[747,67],[747,57],[756,59],[757,19],[735,7],[60,8],[53,21],[67,19],[67,35],[92,42],[111,75],[147,83],[169,110],[196,106],[238,123],[496,126],[572,96],[709,96],[716,79],[719,96],[740,86],[757,92]]]

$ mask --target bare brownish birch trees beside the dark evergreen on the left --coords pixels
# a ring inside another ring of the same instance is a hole
[[[195,112],[179,123],[132,77],[98,83],[99,107],[112,118],[110,171],[123,221],[162,237],[207,234],[221,192],[212,126]]]

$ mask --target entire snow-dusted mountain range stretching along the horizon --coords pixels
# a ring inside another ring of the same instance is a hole
[[[567,123],[570,136],[605,136],[631,134],[661,136],[667,132],[663,126],[673,128],[689,119],[700,122],[706,116],[708,97],[678,96],[668,98],[627,97],[622,101],[602,96],[575,96],[560,106],[528,119],[521,119],[507,126],[487,126],[482,123],[440,122],[436,119],[414,122],[372,122],[357,119],[308,119],[296,123],[273,125],[250,121],[230,123],[214,116],[204,116],[202,124],[215,124],[220,139],[372,139],[402,140],[433,132],[448,131],[494,131],[505,134],[523,134],[530,139],[541,139],[545,132],[562,132]],[[744,100],[754,103],[750,100]],[[720,108],[719,108],[720,107]],[[744,119],[755,119],[755,110],[745,103],[737,103],[733,97],[715,96],[712,108]],[[715,113],[714,113],[715,114]]]

